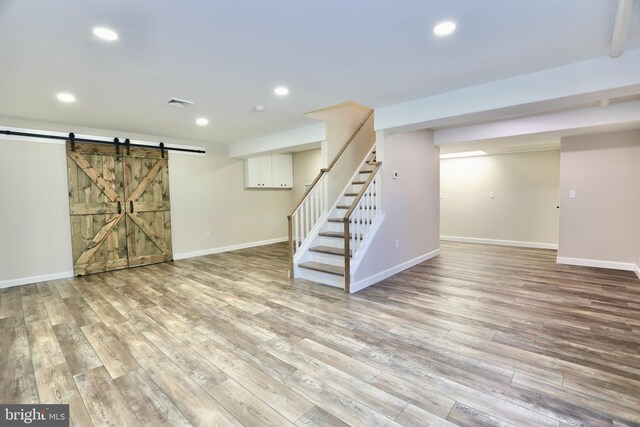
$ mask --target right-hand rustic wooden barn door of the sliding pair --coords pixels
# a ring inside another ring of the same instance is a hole
[[[123,157],[131,267],[173,259],[167,156],[137,148]]]

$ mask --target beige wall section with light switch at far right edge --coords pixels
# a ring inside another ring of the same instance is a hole
[[[633,269],[639,226],[640,131],[562,138],[558,262]]]

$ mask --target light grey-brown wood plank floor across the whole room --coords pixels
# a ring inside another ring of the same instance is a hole
[[[0,402],[78,426],[640,425],[640,280],[443,243],[355,295],[283,244],[0,291]]]

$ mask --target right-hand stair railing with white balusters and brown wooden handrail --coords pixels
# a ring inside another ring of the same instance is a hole
[[[382,187],[377,176],[382,163],[370,164],[375,167],[342,218],[344,222],[344,291],[347,293],[350,292],[351,286],[351,261],[356,259],[382,208]]]

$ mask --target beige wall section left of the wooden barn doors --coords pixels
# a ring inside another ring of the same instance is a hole
[[[64,145],[0,140],[0,206],[0,284],[71,274]]]

